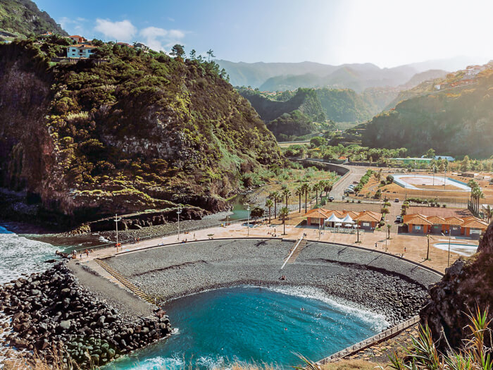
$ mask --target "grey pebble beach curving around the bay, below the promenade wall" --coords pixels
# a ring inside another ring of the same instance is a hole
[[[332,298],[384,314],[394,324],[416,314],[440,276],[377,252],[309,242],[282,271],[293,242],[210,240],[106,259],[150,295],[170,300],[239,284],[319,288]],[[280,280],[285,275],[286,280]],[[173,318],[171,318],[173,320]]]

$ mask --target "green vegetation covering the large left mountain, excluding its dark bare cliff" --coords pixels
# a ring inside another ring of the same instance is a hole
[[[106,63],[50,68],[60,46],[53,42],[0,46],[0,69],[22,62],[49,81],[41,124],[65,189],[97,187],[152,203],[143,208],[176,194],[201,206],[201,197],[259,185],[273,175],[268,166],[284,165],[273,135],[214,61],[101,44]]]

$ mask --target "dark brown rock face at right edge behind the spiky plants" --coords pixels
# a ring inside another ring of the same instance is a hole
[[[454,348],[463,344],[463,331],[470,324],[467,314],[474,313],[476,307],[489,307],[489,319],[493,318],[493,223],[482,238],[478,253],[450,266],[442,280],[430,288],[430,297],[420,312],[421,321],[428,323],[435,340],[439,340],[443,328]],[[444,340],[439,345],[447,348]]]

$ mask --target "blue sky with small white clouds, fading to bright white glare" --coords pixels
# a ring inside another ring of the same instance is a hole
[[[493,59],[492,0],[35,0],[70,35],[244,62]]]

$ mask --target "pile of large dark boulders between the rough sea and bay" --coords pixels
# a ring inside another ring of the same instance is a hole
[[[61,354],[69,367],[101,366],[170,334],[170,320],[125,319],[83,288],[65,264],[0,287],[0,310],[11,316],[8,345],[37,350],[53,362]]]

